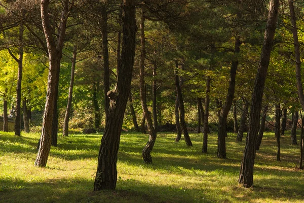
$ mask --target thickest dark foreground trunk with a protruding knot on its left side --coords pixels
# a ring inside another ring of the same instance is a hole
[[[117,85],[107,93],[110,107],[106,116],[104,134],[98,155],[98,166],[94,183],[94,191],[116,187],[117,155],[120,134],[127,100],[131,89],[131,78],[135,56],[135,2],[124,0],[123,5],[123,42]]]

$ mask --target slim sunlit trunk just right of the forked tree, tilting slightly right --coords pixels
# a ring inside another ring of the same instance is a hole
[[[69,86],[69,89],[68,89],[67,105],[66,105],[64,123],[63,123],[63,130],[62,130],[62,136],[63,137],[68,136],[68,121],[69,121],[70,110],[71,110],[71,107],[72,107],[76,56],[77,56],[77,47],[74,46],[73,58],[72,58],[72,67],[71,67],[71,79],[70,79],[70,86]]]

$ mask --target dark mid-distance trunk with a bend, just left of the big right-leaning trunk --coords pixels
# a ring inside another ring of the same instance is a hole
[[[240,47],[241,47],[240,37],[236,36],[235,51],[234,51],[235,54],[238,54],[240,52]],[[219,158],[226,158],[226,141],[225,141],[225,137],[227,136],[226,122],[227,122],[228,113],[233,103],[238,64],[239,64],[238,59],[232,61],[232,65],[230,69],[230,81],[229,81],[228,93],[226,96],[225,104],[221,109],[219,115],[218,133],[217,133],[217,157]]]

